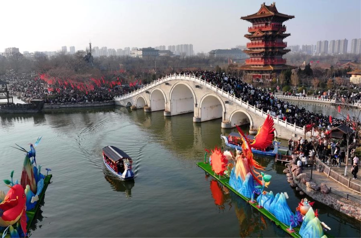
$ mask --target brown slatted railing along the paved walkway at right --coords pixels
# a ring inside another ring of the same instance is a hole
[[[323,173],[327,175],[328,178],[335,180],[336,182],[342,184],[343,186],[347,187],[349,190],[355,191],[361,194],[361,184],[352,181],[351,177],[345,177],[344,175],[337,173],[336,171],[332,170],[330,166],[327,166],[323,163],[320,159],[316,158],[316,165],[321,165],[323,167]]]

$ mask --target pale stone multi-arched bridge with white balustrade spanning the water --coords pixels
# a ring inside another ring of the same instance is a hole
[[[194,75],[167,75],[143,88],[115,97],[119,106],[135,106],[144,111],[164,111],[164,116],[193,112],[193,122],[222,118],[222,128],[250,124],[262,126],[267,114],[234,95]],[[304,127],[297,127],[274,117],[275,135],[290,139],[303,136]]]

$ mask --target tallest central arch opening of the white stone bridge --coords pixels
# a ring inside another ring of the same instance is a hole
[[[196,95],[188,84],[177,82],[169,93],[170,115],[178,115],[194,111],[197,103]]]

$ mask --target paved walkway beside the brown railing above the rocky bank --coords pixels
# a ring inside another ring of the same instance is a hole
[[[342,168],[343,168],[343,170],[342,170]],[[336,171],[339,170],[340,172],[342,172],[341,174],[343,175],[344,171],[345,171],[345,165],[343,165],[340,168],[332,166],[331,169],[336,170]],[[350,169],[351,169],[351,167],[350,167]],[[347,177],[351,176],[351,173],[350,173],[351,171],[349,171],[350,169],[349,169],[349,166],[347,166],[347,171],[348,171],[348,173],[347,173],[348,176]],[[311,177],[311,170],[310,169],[304,169],[303,173],[306,173],[309,178]],[[319,173],[317,171],[317,169],[313,170],[313,172],[312,172],[312,180],[311,181],[316,183],[317,185],[320,185],[321,183],[325,183],[325,184],[327,184],[327,187],[331,188],[332,193],[340,195],[342,197],[347,197],[347,194],[348,194],[350,200],[361,203],[361,194],[359,194],[357,192],[354,192],[352,190],[349,190],[347,187],[345,187],[342,184],[336,182],[332,178],[328,178],[325,173],[323,173],[323,172]],[[360,179],[355,179],[353,181],[355,181],[355,182],[357,181],[357,182],[360,183]]]

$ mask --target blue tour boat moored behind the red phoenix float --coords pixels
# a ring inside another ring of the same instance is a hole
[[[228,147],[231,147],[233,149],[242,150],[242,146],[241,146],[242,140],[241,140],[238,132],[231,132],[228,135],[228,137],[223,136],[221,134],[221,139],[223,139],[225,141],[225,143]],[[250,141],[255,140],[255,136],[247,135],[247,139],[249,139]],[[274,142],[274,144],[276,144],[276,146],[274,146],[271,143],[265,150],[258,150],[258,149],[252,148],[252,152],[255,154],[262,154],[265,156],[276,156],[276,154],[278,153],[279,144],[277,144],[275,142]]]

